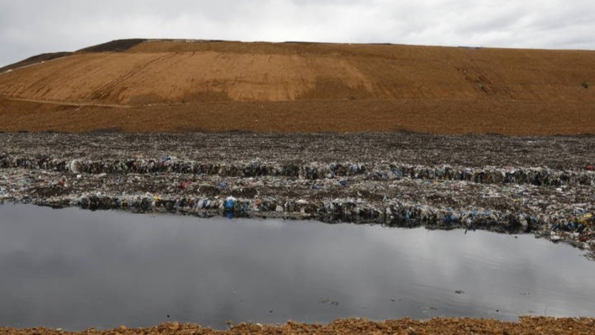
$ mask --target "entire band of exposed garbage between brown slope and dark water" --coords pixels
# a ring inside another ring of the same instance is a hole
[[[0,134],[0,202],[531,232],[595,250],[595,137]]]

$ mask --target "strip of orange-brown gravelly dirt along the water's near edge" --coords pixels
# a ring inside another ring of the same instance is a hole
[[[20,334],[593,334],[593,318],[521,317],[519,322],[469,318],[433,318],[427,321],[388,320],[383,322],[362,319],[337,320],[327,325],[300,324],[289,321],[284,325],[238,324],[227,331],[212,330],[193,324],[166,323],[151,328],[112,330],[89,329],[80,333],[46,328],[16,330],[0,328],[0,333]]]

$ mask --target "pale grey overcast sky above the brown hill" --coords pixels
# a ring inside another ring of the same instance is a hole
[[[595,0],[0,0],[0,66],[123,38],[595,49]]]

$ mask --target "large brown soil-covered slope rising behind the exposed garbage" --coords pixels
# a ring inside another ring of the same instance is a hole
[[[590,51],[114,45],[0,75],[0,131],[595,132]]]

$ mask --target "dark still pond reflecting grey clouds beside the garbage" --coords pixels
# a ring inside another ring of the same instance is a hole
[[[9,204],[0,271],[0,325],[15,327],[595,315],[580,250],[481,231]]]

